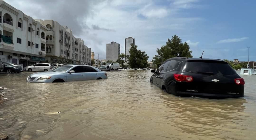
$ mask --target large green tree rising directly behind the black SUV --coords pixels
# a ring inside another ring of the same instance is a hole
[[[172,57],[193,57],[187,42],[182,43],[180,37],[177,35],[174,35],[171,40],[168,38],[166,45],[162,46],[160,49],[157,48],[156,52],[158,55],[155,55],[152,59],[156,68]]]

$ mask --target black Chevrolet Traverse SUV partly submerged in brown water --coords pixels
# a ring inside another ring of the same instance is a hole
[[[151,72],[151,83],[177,96],[244,97],[244,79],[220,59],[174,57]]]

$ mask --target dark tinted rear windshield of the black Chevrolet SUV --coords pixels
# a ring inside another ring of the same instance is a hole
[[[236,71],[226,62],[222,61],[185,61],[184,71],[212,76],[235,75]]]

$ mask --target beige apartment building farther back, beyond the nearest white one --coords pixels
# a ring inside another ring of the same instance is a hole
[[[91,49],[76,38],[72,30],[54,20],[37,20],[47,27],[46,57],[48,63],[87,64],[91,63]]]

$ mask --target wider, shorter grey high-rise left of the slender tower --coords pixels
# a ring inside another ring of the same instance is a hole
[[[116,42],[111,42],[110,44],[107,44],[107,61],[112,60],[116,61],[119,58],[120,55],[120,44]]]

